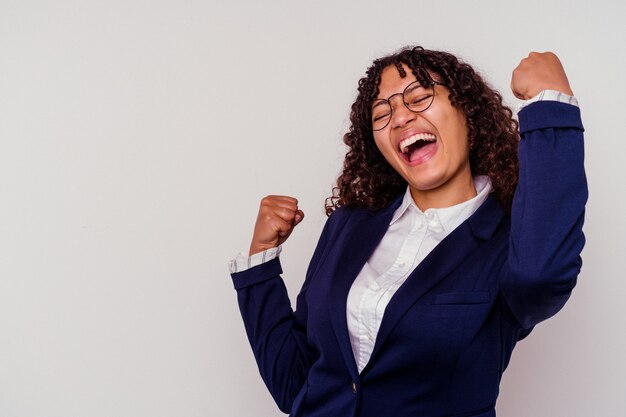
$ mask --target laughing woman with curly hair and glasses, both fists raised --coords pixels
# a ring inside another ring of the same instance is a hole
[[[558,58],[531,53],[511,88],[529,100],[519,134],[501,96],[450,54],[374,62],[295,312],[277,255],[304,213],[291,197],[262,200],[251,257],[231,271],[282,411],[495,416],[516,342],[576,283],[587,198]]]

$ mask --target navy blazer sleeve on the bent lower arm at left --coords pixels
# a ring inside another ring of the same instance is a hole
[[[296,300],[295,312],[281,278],[279,258],[231,274],[259,372],[276,404],[285,413],[291,411],[317,356],[307,342],[306,292],[318,264],[327,253],[329,242],[332,242],[338,214],[331,215],[322,230]]]

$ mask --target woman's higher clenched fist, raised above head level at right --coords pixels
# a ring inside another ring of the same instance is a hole
[[[513,70],[511,90],[515,97],[528,100],[543,90],[557,90],[573,96],[559,57],[552,52],[531,52]]]

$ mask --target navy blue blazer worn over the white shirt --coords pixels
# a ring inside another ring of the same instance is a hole
[[[516,342],[576,284],[587,187],[577,107],[533,103],[520,119],[512,213],[490,196],[390,300],[359,374],[348,291],[402,196],[329,218],[291,309],[280,261],[232,275],[259,370],[279,408],[303,417],[495,416]]]

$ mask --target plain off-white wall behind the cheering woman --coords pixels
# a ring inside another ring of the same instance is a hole
[[[583,111],[584,268],[520,343],[498,414],[626,410],[622,1],[0,0],[0,416],[282,415],[227,261],[300,199],[295,296],[372,59],[406,44],[510,74],[553,50]],[[546,178],[550,181],[550,178]]]

